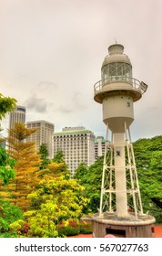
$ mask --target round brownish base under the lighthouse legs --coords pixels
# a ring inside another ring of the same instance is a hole
[[[138,215],[135,219],[133,214],[127,218],[119,218],[116,213],[103,213],[92,216],[93,237],[104,238],[106,234],[119,238],[154,238],[154,223],[156,219],[150,215]]]

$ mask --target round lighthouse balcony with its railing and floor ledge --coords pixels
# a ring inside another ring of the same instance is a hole
[[[142,94],[147,91],[147,85],[134,78],[126,76],[113,76],[99,80],[94,85],[94,99],[102,103],[108,95],[121,93],[121,91],[132,96],[133,101],[138,101]]]

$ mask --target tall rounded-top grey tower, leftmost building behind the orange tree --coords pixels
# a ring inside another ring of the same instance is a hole
[[[10,112],[9,129],[12,129],[15,123],[25,124],[25,107],[17,105],[15,111]]]

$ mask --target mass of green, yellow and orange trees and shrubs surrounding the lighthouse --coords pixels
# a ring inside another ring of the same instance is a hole
[[[0,120],[15,102],[0,95]],[[92,232],[82,217],[98,211],[103,157],[90,166],[81,163],[71,177],[63,152],[49,160],[46,144],[36,152],[27,140],[31,133],[35,129],[15,123],[5,138],[7,150],[0,146],[0,237]],[[162,136],[137,140],[134,151],[144,211],[162,223]]]

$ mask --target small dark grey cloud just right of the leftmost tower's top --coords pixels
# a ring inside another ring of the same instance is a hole
[[[29,96],[25,100],[24,105],[28,110],[35,112],[46,112],[47,111],[47,102],[44,98],[38,98],[35,94]]]

